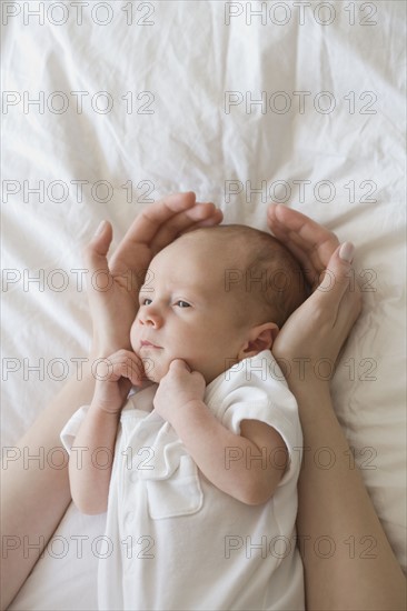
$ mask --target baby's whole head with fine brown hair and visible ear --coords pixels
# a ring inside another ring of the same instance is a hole
[[[268,233],[238,224],[198,229],[152,259],[131,345],[153,382],[182,359],[209,383],[270,349],[305,298],[297,261]]]

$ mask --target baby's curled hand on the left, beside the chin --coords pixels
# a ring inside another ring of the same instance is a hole
[[[130,350],[118,350],[99,362],[96,371],[92,404],[109,413],[118,413],[132,385],[145,379],[141,359]]]

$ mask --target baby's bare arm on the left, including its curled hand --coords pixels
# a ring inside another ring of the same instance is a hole
[[[142,364],[133,352],[119,350],[106,364],[69,459],[72,500],[89,514],[107,510],[120,411],[131,385],[142,381]]]

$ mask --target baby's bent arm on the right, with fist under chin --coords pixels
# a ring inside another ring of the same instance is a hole
[[[247,504],[265,503],[287,465],[281,435],[258,420],[242,420],[240,434],[232,433],[205,404],[204,392],[204,377],[189,372],[183,361],[173,361],[157,390],[155,408],[217,488]]]

